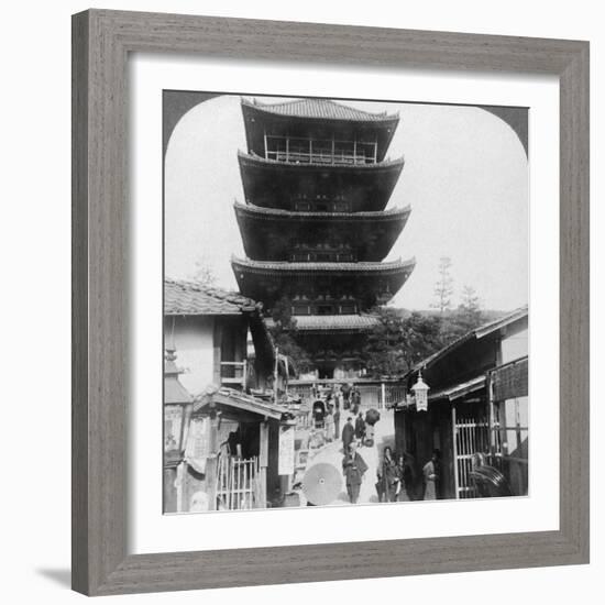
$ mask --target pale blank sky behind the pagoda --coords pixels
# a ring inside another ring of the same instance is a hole
[[[264,98],[264,102],[279,99]],[[387,208],[411,206],[385,261],[416,258],[389,305],[428,309],[442,256],[460,302],[473,287],[486,309],[528,300],[528,162],[513,130],[476,107],[342,101],[366,111],[399,113],[387,157],[405,166]],[[191,278],[196,262],[217,285],[238,289],[232,254],[244,256],[233,201],[244,201],[238,150],[246,151],[239,96],[189,110],[177,123],[165,158],[165,275]]]

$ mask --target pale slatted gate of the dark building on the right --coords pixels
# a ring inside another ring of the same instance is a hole
[[[490,421],[476,413],[458,413],[452,407],[454,480],[457,498],[474,498],[476,491],[471,479],[474,454],[490,450]]]

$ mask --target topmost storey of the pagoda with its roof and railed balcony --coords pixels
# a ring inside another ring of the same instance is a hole
[[[262,103],[242,99],[248,150],[297,164],[364,165],[382,162],[398,114],[371,113],[329,99]]]

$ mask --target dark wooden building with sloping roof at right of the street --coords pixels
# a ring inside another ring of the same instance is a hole
[[[409,396],[394,406],[396,449],[411,454],[417,476],[438,449],[438,497],[480,496],[473,473],[482,463],[502,472],[512,495],[527,495],[527,307],[418,363],[404,377],[408,393],[419,372],[429,386],[428,409],[418,410]]]

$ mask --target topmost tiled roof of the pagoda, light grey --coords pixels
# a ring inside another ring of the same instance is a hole
[[[280,103],[262,103],[254,99],[252,102],[242,99],[243,105],[249,105],[267,113],[288,116],[292,118],[315,118],[319,120],[345,120],[352,122],[385,122],[398,120],[397,113],[388,114],[371,113],[330,99],[295,99]]]

